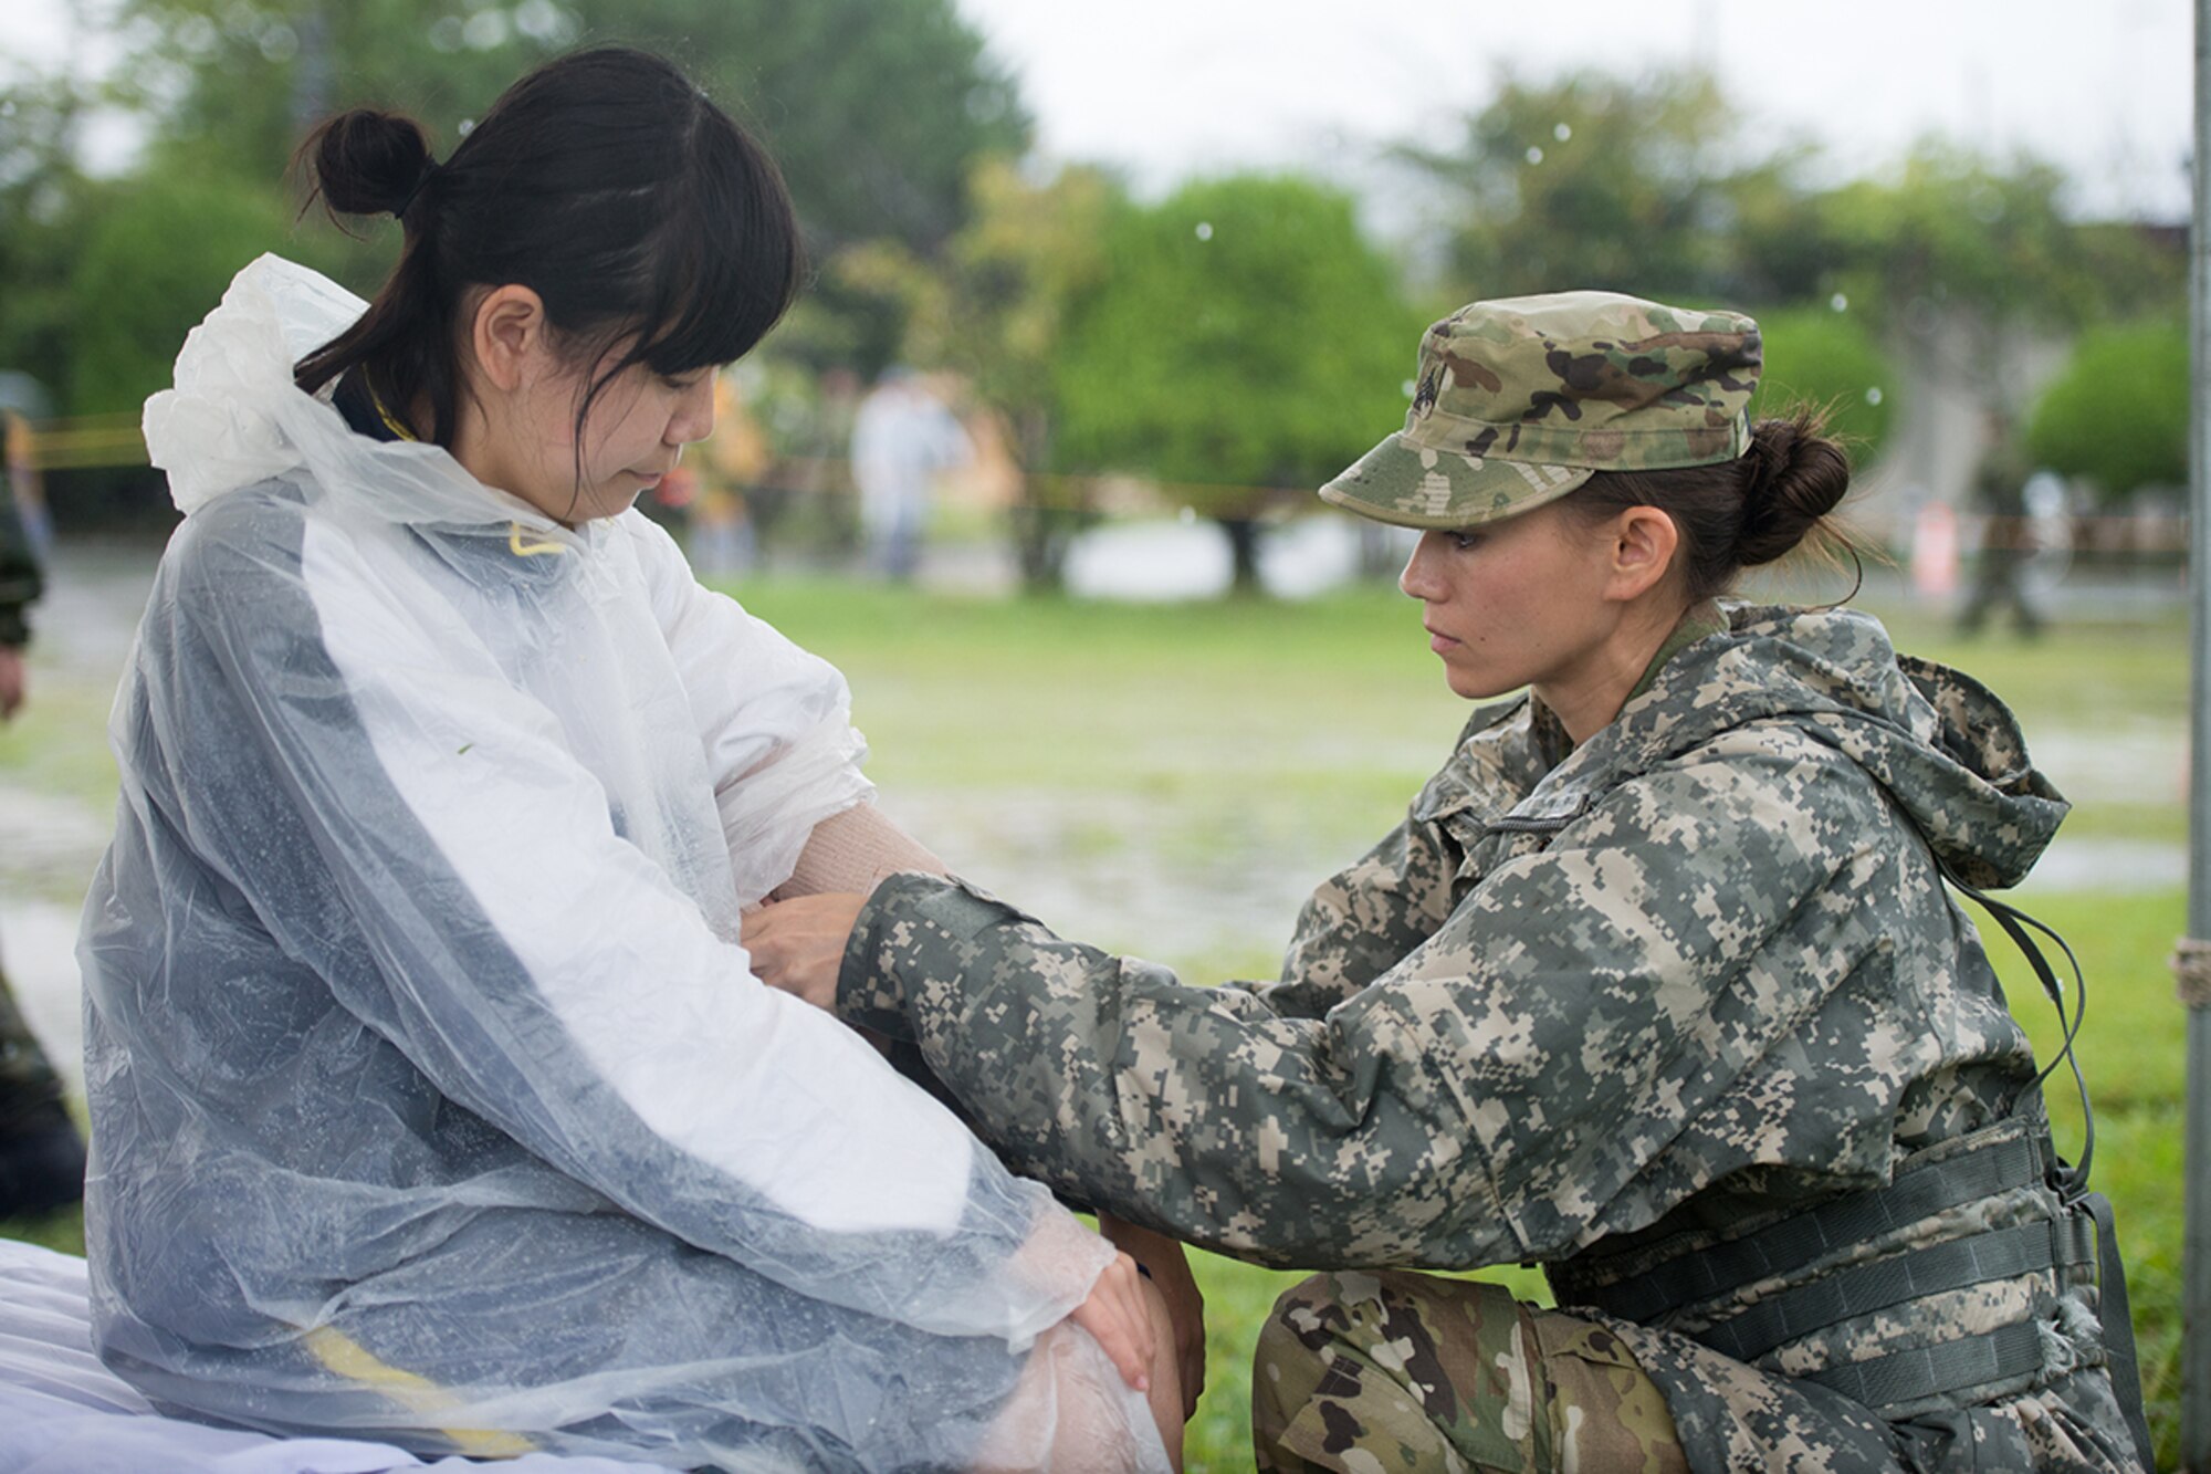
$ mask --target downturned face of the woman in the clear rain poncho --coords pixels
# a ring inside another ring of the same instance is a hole
[[[557,522],[588,522],[628,511],[688,443],[712,434],[714,370],[663,376],[632,363],[599,390],[579,438],[575,414],[595,372],[539,345],[517,392],[486,416],[482,465],[469,467],[478,480]]]

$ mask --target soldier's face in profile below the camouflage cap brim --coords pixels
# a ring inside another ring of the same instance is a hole
[[[1468,531],[1422,533],[1397,587],[1468,699],[1590,679],[1616,622],[1612,544],[1552,502]]]

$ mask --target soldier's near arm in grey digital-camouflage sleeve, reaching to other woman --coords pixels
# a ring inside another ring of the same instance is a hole
[[[1271,1264],[1545,1257],[1718,1171],[1689,1122],[1886,945],[1846,899],[1897,845],[1871,786],[1815,759],[1645,775],[1324,1018],[895,876],[838,1011],[913,1040],[1015,1171],[1176,1237]],[[1771,949],[1789,965],[1753,965]],[[1879,1115],[1859,1093],[1837,1131]]]

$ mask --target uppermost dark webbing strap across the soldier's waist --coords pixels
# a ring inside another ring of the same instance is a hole
[[[1572,1264],[1554,1266],[1561,1299],[1590,1304],[1625,1321],[1714,1299],[1758,1279],[1804,1268],[1835,1250],[1908,1228],[1932,1213],[2030,1186],[2045,1177],[2034,1138],[2010,1131],[1957,1155],[1910,1162],[1882,1188],[1831,1197],[1758,1233],[1680,1255],[1610,1286],[1579,1284]]]

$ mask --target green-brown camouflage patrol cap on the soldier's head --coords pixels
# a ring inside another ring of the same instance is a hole
[[[1751,443],[1758,323],[1616,292],[1459,308],[1419,341],[1404,429],[1320,489],[1400,527],[1475,527],[1596,471],[1733,460]]]

